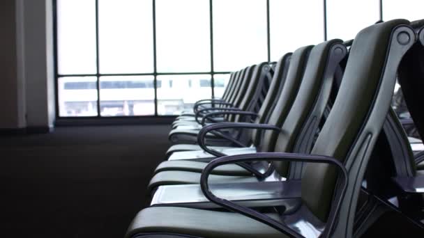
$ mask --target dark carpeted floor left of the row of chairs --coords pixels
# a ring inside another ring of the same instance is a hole
[[[149,203],[167,125],[0,136],[0,237],[123,237]]]

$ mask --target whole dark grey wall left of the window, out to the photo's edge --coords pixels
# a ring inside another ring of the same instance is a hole
[[[0,29],[0,129],[52,127],[52,1],[0,1]]]

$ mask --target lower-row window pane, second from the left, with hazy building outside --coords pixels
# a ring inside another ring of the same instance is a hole
[[[153,76],[100,77],[100,115],[155,115]]]

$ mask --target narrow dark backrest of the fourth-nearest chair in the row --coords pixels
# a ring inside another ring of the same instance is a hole
[[[271,116],[271,111],[275,107],[275,102],[277,101],[276,99],[280,97],[282,88],[285,85],[291,57],[292,53],[287,53],[282,56],[275,65],[275,68],[273,69],[274,72],[273,78],[271,80],[271,85],[269,86],[268,93],[266,93],[264,102],[262,103],[262,106],[259,109],[255,123],[262,124],[268,122],[269,116]],[[254,145],[258,145],[261,135],[262,132],[258,131],[257,129],[253,129],[250,138],[251,143]]]

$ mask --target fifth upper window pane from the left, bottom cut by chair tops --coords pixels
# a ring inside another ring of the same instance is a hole
[[[278,61],[281,56],[299,47],[324,41],[324,3],[322,1],[271,0],[269,7],[271,61]],[[296,24],[287,24],[288,22],[296,22]],[[305,26],[308,26],[307,29]]]

